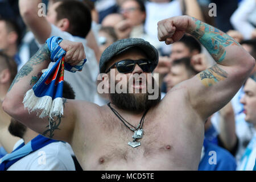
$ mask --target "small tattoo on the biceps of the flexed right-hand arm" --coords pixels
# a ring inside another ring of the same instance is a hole
[[[227,78],[228,73],[226,73],[223,69],[218,67],[217,64],[215,64],[213,65],[213,67],[210,67],[205,71],[199,73],[199,77],[204,86],[208,87]]]

